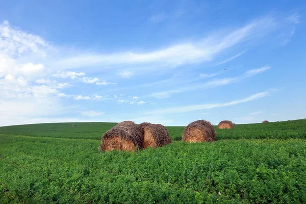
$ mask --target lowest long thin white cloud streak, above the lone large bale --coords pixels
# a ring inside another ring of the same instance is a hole
[[[169,114],[169,113],[183,113],[183,112],[189,112],[189,111],[197,111],[197,110],[205,110],[205,109],[213,109],[213,108],[220,108],[220,107],[227,107],[227,106],[233,106],[241,103],[245,103],[247,101],[256,100],[262,97],[268,96],[270,93],[268,91],[256,93],[253,95],[250,95],[247,98],[239,99],[239,100],[233,100],[228,103],[217,103],[217,104],[201,104],[201,105],[193,105],[193,106],[180,106],[180,107],[174,107],[174,108],[167,108],[162,110],[155,110],[151,112],[147,112],[145,114]]]

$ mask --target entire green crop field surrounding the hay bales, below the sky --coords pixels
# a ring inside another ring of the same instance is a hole
[[[0,127],[0,203],[305,203],[306,120],[216,129],[216,142],[98,154],[115,123]]]

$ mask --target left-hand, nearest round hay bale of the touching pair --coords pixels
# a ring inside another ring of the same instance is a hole
[[[107,131],[101,139],[99,150],[138,150],[143,148],[139,125],[132,121],[123,121]]]

